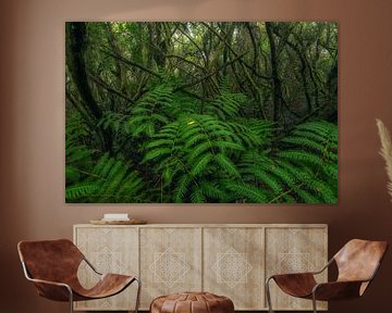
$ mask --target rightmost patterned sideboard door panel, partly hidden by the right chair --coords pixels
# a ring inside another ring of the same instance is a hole
[[[266,277],[273,274],[309,272],[321,270],[327,264],[327,226],[320,227],[268,227],[266,229]],[[317,280],[327,281],[328,273],[318,275]],[[271,300],[274,310],[311,310],[311,301],[283,293],[271,285]],[[318,302],[318,309],[327,310],[326,302]]]

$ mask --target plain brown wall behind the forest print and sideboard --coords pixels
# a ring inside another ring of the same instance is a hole
[[[353,237],[392,242],[392,203],[375,118],[392,128],[390,0],[0,1],[0,310],[68,312],[24,280],[21,239],[72,236],[72,225],[125,211],[151,223],[328,223],[330,254]],[[338,205],[65,205],[65,21],[338,21]],[[390,312],[392,258],[365,298],[331,312]]]

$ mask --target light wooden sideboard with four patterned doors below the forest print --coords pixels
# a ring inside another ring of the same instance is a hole
[[[199,290],[231,298],[235,310],[267,310],[268,276],[320,270],[328,261],[324,224],[83,224],[74,225],[74,242],[99,271],[140,277],[140,310],[158,296]],[[78,276],[85,286],[96,283],[85,264]],[[271,287],[273,309],[311,310],[311,301]],[[131,310],[135,295],[132,285],[111,298],[76,302],[75,310]]]

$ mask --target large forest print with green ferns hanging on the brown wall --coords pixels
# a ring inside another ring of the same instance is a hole
[[[66,22],[68,203],[338,203],[338,24]]]

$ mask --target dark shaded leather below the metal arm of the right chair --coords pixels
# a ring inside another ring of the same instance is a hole
[[[313,295],[316,300],[340,300],[358,298],[362,296],[362,286],[369,280],[346,280],[346,281],[330,281],[317,284],[313,289]]]

